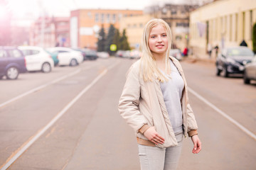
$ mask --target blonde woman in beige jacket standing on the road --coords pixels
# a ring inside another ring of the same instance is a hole
[[[119,112],[137,135],[141,169],[176,169],[183,135],[201,151],[181,64],[169,56],[171,29],[161,19],[144,27],[142,57],[127,74]]]

